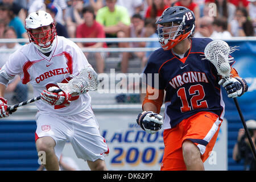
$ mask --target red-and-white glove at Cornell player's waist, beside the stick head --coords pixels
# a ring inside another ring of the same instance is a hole
[[[54,93],[57,90],[56,86],[48,88],[48,90],[43,90],[41,93],[41,100],[49,105],[65,105],[68,106],[71,100],[71,94],[65,92]]]

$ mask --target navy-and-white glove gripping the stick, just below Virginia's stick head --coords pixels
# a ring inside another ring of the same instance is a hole
[[[230,77],[228,79],[222,78],[218,84],[222,85],[228,93],[228,97],[232,98],[242,96],[242,94],[248,90],[246,81],[238,77]]]

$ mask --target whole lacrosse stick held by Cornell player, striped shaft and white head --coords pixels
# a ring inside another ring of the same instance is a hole
[[[68,83],[57,83],[60,89],[54,90],[54,93],[58,93],[64,91],[65,93],[72,94],[72,96],[77,96],[82,94],[88,90],[95,91],[97,90],[98,81],[97,81],[97,73],[93,71],[90,67],[84,68],[79,72],[79,75],[72,76],[72,79]],[[41,96],[31,98],[30,100],[20,102],[19,104],[15,104],[13,106],[7,107],[7,111],[9,113],[13,113],[17,107],[24,106],[30,104],[32,102],[38,101],[41,99]]]

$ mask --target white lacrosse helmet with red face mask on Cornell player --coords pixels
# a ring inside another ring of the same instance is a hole
[[[51,28],[46,30],[43,28],[46,26],[50,26]],[[32,32],[33,29],[39,27],[42,28],[40,32]],[[25,20],[25,28],[30,42],[33,43],[39,51],[44,53],[52,51],[53,42],[55,41],[57,33],[54,20],[49,13],[39,10],[29,14]]]

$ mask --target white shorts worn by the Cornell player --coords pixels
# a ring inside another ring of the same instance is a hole
[[[90,105],[81,113],[69,116],[38,111],[36,125],[35,139],[52,137],[56,143],[55,154],[58,159],[67,140],[80,159],[104,160],[104,154],[109,152]]]

